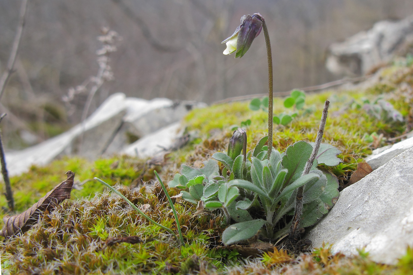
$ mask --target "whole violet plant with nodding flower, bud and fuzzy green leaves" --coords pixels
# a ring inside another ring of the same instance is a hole
[[[225,39],[224,54],[242,57],[254,38],[263,30],[268,57],[268,136],[247,152],[247,133],[238,128],[228,145],[228,152],[216,152],[202,168],[182,166],[168,184],[183,189],[182,199],[197,209],[220,211],[224,244],[247,240],[255,235],[277,240],[290,235],[299,238],[299,228],[313,225],[335,204],[339,196],[338,180],[318,164],[335,166],[338,149],[321,144],[329,102],[325,108],[314,144],[295,142],[280,153],[273,145],[273,81],[271,45],[263,17],[256,13],[241,18],[232,36]],[[301,104],[293,97],[292,104]],[[298,100],[297,100],[298,99]],[[291,101],[291,100],[290,100]],[[268,142],[268,145],[265,143]],[[235,222],[235,223],[233,223]]]

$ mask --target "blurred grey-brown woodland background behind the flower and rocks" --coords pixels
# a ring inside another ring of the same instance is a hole
[[[0,73],[7,66],[20,5],[0,0]],[[80,121],[88,92],[74,97],[70,111],[62,97],[97,75],[102,27],[122,40],[109,55],[114,79],[100,87],[89,114],[114,92],[209,104],[267,92],[263,35],[242,59],[222,54],[221,41],[242,15],[255,12],[268,25],[275,91],[339,79],[325,69],[327,47],[377,21],[413,14],[413,1],[30,0],[27,8],[15,71],[1,99],[9,149],[45,140]]]

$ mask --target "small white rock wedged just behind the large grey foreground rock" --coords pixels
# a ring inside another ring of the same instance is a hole
[[[375,170],[398,154],[412,147],[413,137],[410,137],[406,140],[402,140],[401,142],[397,142],[394,145],[387,145],[385,147],[373,150],[373,153],[366,158],[366,162],[370,164],[373,170]]]

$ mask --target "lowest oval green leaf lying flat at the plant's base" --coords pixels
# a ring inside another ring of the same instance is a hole
[[[222,241],[225,245],[228,245],[254,237],[264,223],[266,223],[265,220],[257,219],[230,225],[224,230]]]

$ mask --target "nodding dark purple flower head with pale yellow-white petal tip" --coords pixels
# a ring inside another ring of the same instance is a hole
[[[259,13],[241,17],[241,24],[233,35],[222,41],[222,43],[227,45],[223,54],[230,55],[235,52],[235,58],[245,55],[249,47],[251,47],[254,38],[260,34],[263,20]]]

